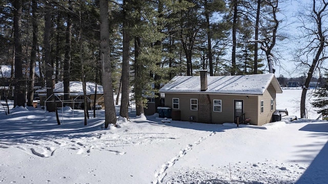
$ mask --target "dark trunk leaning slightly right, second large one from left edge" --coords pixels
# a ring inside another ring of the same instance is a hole
[[[32,27],[33,27],[33,40],[32,40],[32,49],[31,49],[31,60],[30,60],[30,80],[29,80],[29,89],[27,94],[27,106],[33,106],[33,96],[34,96],[34,82],[35,82],[35,64],[36,64],[36,52],[38,50],[37,35],[37,2],[32,0]]]

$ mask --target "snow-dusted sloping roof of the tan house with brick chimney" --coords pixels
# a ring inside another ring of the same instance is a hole
[[[274,74],[208,76],[208,89],[200,90],[200,76],[175,76],[160,93],[220,93],[262,95],[273,84],[276,93],[282,89]]]

